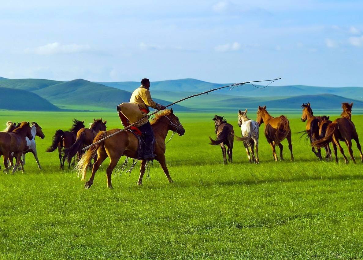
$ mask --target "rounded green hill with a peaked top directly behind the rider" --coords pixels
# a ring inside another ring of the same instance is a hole
[[[84,109],[88,107],[104,107],[115,109],[122,102],[129,102],[131,93],[125,90],[115,89],[102,84],[90,82],[87,80],[72,80],[51,85],[34,91],[39,96],[49,100],[57,105],[79,105]],[[168,104],[169,101],[154,99],[155,102]],[[174,109],[178,111],[188,111],[183,106],[175,105]]]

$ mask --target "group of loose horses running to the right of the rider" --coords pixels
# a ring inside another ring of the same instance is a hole
[[[310,103],[303,103],[301,107],[301,121],[306,122],[306,130],[300,133],[306,135],[306,137],[310,140],[311,150],[320,160],[323,160],[321,155],[322,148],[326,151],[326,161],[332,160],[330,149],[330,143],[332,143],[335,161],[338,162],[337,148],[339,147],[339,151],[343,155],[345,163],[348,163],[343,147],[339,142],[342,141],[346,143],[348,153],[352,161],[355,163],[352,150],[352,140],[354,140],[360,153],[360,159],[363,162],[363,154],[358,134],[356,132],[355,125],[351,120],[353,103],[342,103],[343,112],[340,114],[340,117],[334,121],[330,121],[329,116],[326,115],[314,116]],[[237,139],[244,143],[249,162],[260,162],[260,159],[258,158],[258,137],[259,127],[262,123],[265,124],[264,134],[267,142],[271,146],[274,160],[278,161],[276,146],[280,148],[280,159],[284,160],[282,154],[283,145],[281,143],[284,139],[287,139],[289,144],[288,147],[291,154],[291,161],[294,160],[289,120],[284,115],[281,115],[280,117],[272,117],[266,110],[266,106],[258,106],[256,121],[247,117],[247,109],[245,111],[238,111],[238,126],[241,127],[242,137],[237,137],[234,134],[233,126],[227,123],[227,120],[224,119],[224,117],[215,115],[213,120],[215,121],[215,133],[217,134],[217,137],[215,140],[211,137],[209,137],[209,139],[211,140],[211,145],[221,146],[224,163],[227,163],[227,155],[228,161],[233,161],[233,139]],[[256,151],[256,155],[254,154],[254,150]]]

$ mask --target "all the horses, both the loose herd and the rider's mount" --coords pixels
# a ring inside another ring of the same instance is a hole
[[[337,148],[339,148],[344,161],[348,163],[344,150],[339,143],[339,141],[343,141],[346,143],[350,157],[355,163],[352,151],[353,139],[356,142],[361,161],[363,162],[358,134],[355,130],[354,123],[351,121],[352,106],[353,103],[342,103],[342,114],[334,121],[330,121],[329,116],[314,116],[310,103],[302,104],[301,121],[306,122],[306,130],[301,133],[306,135],[310,140],[311,149],[320,160],[323,160],[321,155],[322,148],[326,151],[326,161],[332,160],[330,149],[330,143],[332,143],[335,161],[338,162]],[[93,121],[93,123],[90,123],[89,128],[86,128],[84,121],[73,119],[73,125],[69,131],[59,129],[55,132],[52,144],[46,152],[51,153],[58,150],[61,169],[64,169],[65,161],[68,162],[68,168],[71,167],[71,164],[74,166],[76,161],[78,161],[76,169],[78,174],[82,176],[82,180],[85,180],[87,169],[91,167],[91,177],[85,183],[85,188],[87,189],[93,184],[98,168],[109,157],[110,163],[106,169],[107,186],[112,188],[111,174],[118,161],[122,155],[129,158],[137,158],[139,141],[131,131],[121,131],[100,142],[101,139],[116,133],[120,129],[106,131],[105,120],[102,120],[102,118],[94,118]],[[266,110],[266,106],[258,106],[256,121],[247,117],[247,109],[245,111],[238,111],[238,126],[241,127],[242,137],[234,134],[233,126],[227,123],[224,117],[215,115],[213,121],[215,121],[216,139],[212,139],[211,137],[209,139],[211,145],[220,145],[224,163],[227,163],[227,157],[229,162],[233,162],[232,151],[234,139],[243,142],[250,163],[260,162],[258,157],[258,139],[259,128],[262,123],[264,123],[264,134],[271,146],[274,160],[278,161],[276,146],[280,148],[280,159],[284,160],[282,153],[283,145],[281,143],[284,139],[287,139],[288,142],[291,161],[294,160],[289,120],[284,115],[272,117]],[[173,131],[180,136],[184,135],[184,127],[172,109],[156,114],[151,122],[151,126],[155,134],[156,157],[154,159],[160,163],[168,181],[171,183],[173,180],[169,174],[165,158],[165,139],[168,131]],[[26,153],[32,153],[34,155],[38,167],[41,169],[36,150],[36,136],[42,139],[45,137],[42,128],[36,122],[7,122],[6,129],[0,132],[0,156],[3,155],[4,157],[4,171],[9,172],[12,168],[12,173],[14,173],[19,166],[24,171]],[[83,152],[82,149],[84,147],[92,144],[94,145],[86,152]],[[16,158],[15,164],[13,163],[13,158]],[[93,163],[92,160],[94,160]],[[146,165],[147,161],[141,161],[138,185],[142,184]]]

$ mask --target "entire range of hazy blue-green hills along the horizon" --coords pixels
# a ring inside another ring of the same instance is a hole
[[[151,82],[151,94],[156,102],[164,105],[178,99],[230,84],[216,84],[195,79]],[[131,92],[139,82],[90,82],[77,79],[54,81],[45,79],[7,79],[0,77],[0,109],[61,111],[114,110],[128,102]],[[259,86],[261,87],[261,86]],[[21,98],[20,98],[21,97]],[[354,102],[354,108],[363,108],[363,88],[316,86],[269,86],[264,89],[250,84],[233,89],[221,89],[188,99],[174,105],[177,111],[256,109],[266,105],[274,109],[300,109],[310,102],[313,109],[340,110],[340,103]],[[29,107],[32,103],[32,107]]]

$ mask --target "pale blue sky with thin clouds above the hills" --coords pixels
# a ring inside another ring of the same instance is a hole
[[[7,1],[0,76],[363,86],[362,14],[348,0]]]

